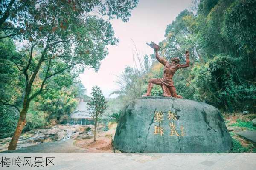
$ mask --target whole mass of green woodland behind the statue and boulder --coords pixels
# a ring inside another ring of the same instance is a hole
[[[190,67],[173,77],[177,94],[227,112],[255,112],[255,16],[255,0],[201,0],[196,14],[181,11],[159,43],[159,54],[168,60],[179,57],[184,62],[184,51],[190,51]],[[154,54],[150,56],[153,62],[146,72],[130,68],[122,74],[124,103],[145,93],[150,78],[163,77],[163,66],[156,64]],[[151,95],[162,94],[154,85]]]

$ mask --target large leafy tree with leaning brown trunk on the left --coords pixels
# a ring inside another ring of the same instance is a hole
[[[4,1],[7,2],[7,1]],[[2,4],[2,1],[1,1]],[[11,37],[20,42],[18,49],[9,54],[3,52],[1,60],[5,65],[15,66],[23,74],[22,108],[18,108],[10,99],[1,103],[20,110],[14,136],[9,143],[9,150],[14,150],[18,138],[26,124],[26,113],[29,103],[38,95],[55,88],[55,81],[70,72],[77,77],[85,67],[99,69],[102,59],[108,54],[107,45],[116,45],[118,39],[108,20],[91,15],[94,10],[109,18],[120,18],[127,21],[131,9],[137,0],[47,0],[29,1],[26,8],[19,8],[17,13],[10,14],[0,28],[3,40]],[[8,10],[6,8],[6,10]],[[2,17],[2,16],[1,16]],[[18,32],[13,33],[14,30]],[[4,53],[9,55],[4,55]],[[56,77],[56,75],[63,75]],[[35,84],[35,79],[41,82]],[[63,81],[57,81],[59,86]]]

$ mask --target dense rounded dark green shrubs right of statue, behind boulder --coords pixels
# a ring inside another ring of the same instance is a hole
[[[196,65],[192,69],[195,99],[226,111],[252,109],[256,86],[241,82],[238,62],[239,59],[220,55],[204,65]]]

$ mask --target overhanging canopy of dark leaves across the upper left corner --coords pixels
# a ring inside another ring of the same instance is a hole
[[[9,36],[19,36],[21,39],[26,37],[27,33],[33,36],[28,37],[30,40],[34,36],[41,37],[41,34],[35,33],[35,28],[43,33],[52,31],[63,36],[68,29],[79,26],[73,25],[74,21],[79,20],[79,17],[87,20],[92,16],[92,11],[97,11],[99,16],[108,16],[109,19],[120,18],[127,21],[137,2],[138,0],[1,1],[0,26],[6,34],[9,33]],[[89,24],[96,26],[93,22]],[[108,31],[108,27],[105,31]]]

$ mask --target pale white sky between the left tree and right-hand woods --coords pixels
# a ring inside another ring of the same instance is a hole
[[[126,66],[133,67],[134,43],[143,56],[152,54],[153,49],[146,42],[162,41],[166,26],[190,5],[191,0],[140,0],[128,22],[111,20],[119,43],[108,47],[109,54],[102,60],[97,73],[93,69],[86,69],[80,75],[87,95],[90,96],[92,87],[98,85],[108,98],[112,91],[119,88],[116,75],[120,75]]]

